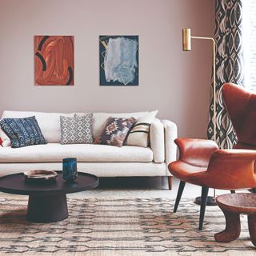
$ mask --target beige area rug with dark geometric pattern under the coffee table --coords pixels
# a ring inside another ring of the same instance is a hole
[[[207,207],[198,231],[199,206],[162,198],[70,198],[62,222],[26,222],[26,197],[0,199],[0,255],[256,255],[246,216],[240,238],[214,242],[225,220],[218,206]]]

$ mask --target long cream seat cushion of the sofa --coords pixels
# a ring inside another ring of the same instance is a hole
[[[0,147],[0,162],[62,162],[77,158],[78,162],[152,162],[153,151],[139,146],[48,143],[18,149]]]

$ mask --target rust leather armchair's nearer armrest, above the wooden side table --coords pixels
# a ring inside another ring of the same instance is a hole
[[[195,174],[194,182],[220,190],[250,189],[256,186],[256,150],[217,150],[208,169]]]

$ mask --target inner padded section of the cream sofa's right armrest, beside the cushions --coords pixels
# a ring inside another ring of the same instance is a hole
[[[150,148],[153,151],[154,162],[165,161],[164,128],[159,119],[154,118],[150,126]]]

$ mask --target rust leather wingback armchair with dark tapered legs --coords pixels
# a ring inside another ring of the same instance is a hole
[[[218,150],[211,140],[177,138],[180,157],[169,165],[170,173],[180,179],[174,213],[186,182],[202,186],[199,230],[202,230],[209,188],[256,187],[256,94],[227,83],[222,87],[222,97],[238,137],[234,149]]]

